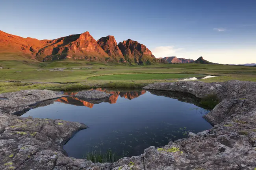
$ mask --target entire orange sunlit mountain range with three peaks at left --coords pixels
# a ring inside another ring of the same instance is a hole
[[[61,59],[83,59],[99,62],[130,62],[150,65],[162,62],[151,51],[137,41],[117,42],[113,36],[96,41],[87,31],[55,40],[22,38],[0,31],[0,55],[18,55],[33,60],[51,61]],[[2,57],[3,58],[3,57]]]

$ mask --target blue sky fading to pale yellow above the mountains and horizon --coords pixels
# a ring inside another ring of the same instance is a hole
[[[89,31],[156,57],[256,63],[256,0],[1,0],[0,30],[37,39]]]

